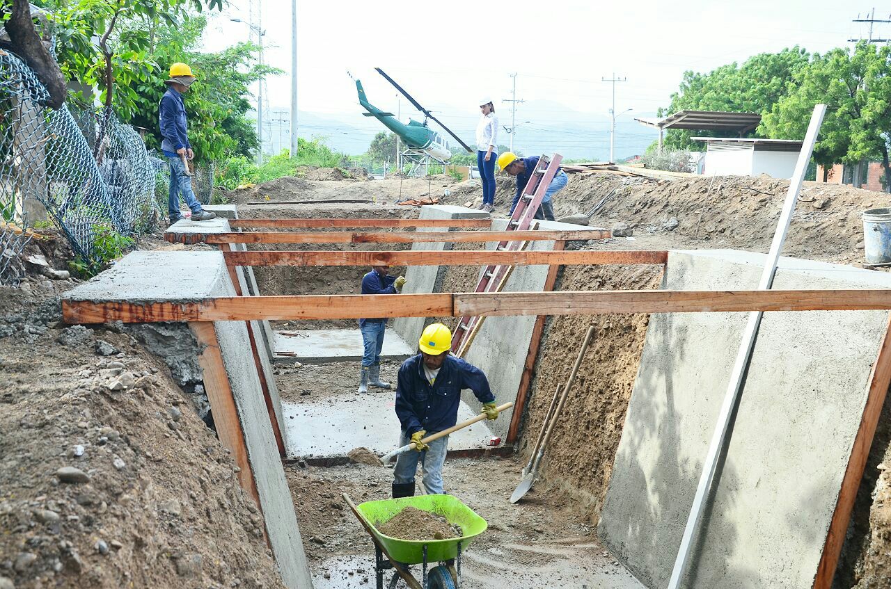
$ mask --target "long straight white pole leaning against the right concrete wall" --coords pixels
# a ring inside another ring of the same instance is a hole
[[[762,272],[761,280],[758,283],[758,290],[770,290],[773,284],[773,276],[776,273],[777,262],[780,260],[783,241],[786,239],[786,232],[789,230],[789,222],[792,221],[792,214],[795,212],[798,192],[801,190],[801,182],[805,179],[807,164],[811,160],[811,154],[813,154],[813,144],[817,141],[817,133],[820,131],[820,125],[822,125],[823,116],[825,114],[825,104],[818,104],[813,107],[811,123],[807,126],[805,142],[801,146],[801,151],[798,153],[795,173],[792,174],[792,180],[789,182],[789,192],[786,194],[786,202],[783,204],[780,221],[777,223],[777,230],[773,234],[770,252],[767,254],[766,262],[764,262],[764,271]],[[699,476],[699,487],[696,488],[696,496],[693,497],[690,516],[687,518],[687,526],[683,528],[681,547],[678,549],[677,558],[674,561],[674,569],[672,570],[671,578],[668,580],[668,589],[680,588],[681,578],[683,577],[684,570],[687,568],[688,561],[690,561],[693,536],[696,533],[697,528],[699,528],[699,520],[706,507],[706,498],[711,491],[712,482],[715,480],[718,458],[726,443],[727,430],[730,427],[733,407],[736,407],[736,404],[740,399],[740,393],[742,392],[743,387],[743,375],[748,367],[749,359],[751,359],[752,349],[755,347],[755,336],[758,332],[758,326],[761,324],[761,317],[763,314],[764,311],[752,311],[749,313],[748,323],[746,324],[745,330],[742,332],[740,351],[737,353],[736,362],[733,364],[730,383],[727,384],[727,392],[724,394],[721,411],[718,414],[717,424],[715,424],[715,432],[712,434],[712,440],[708,445],[708,453],[702,464],[702,474]]]

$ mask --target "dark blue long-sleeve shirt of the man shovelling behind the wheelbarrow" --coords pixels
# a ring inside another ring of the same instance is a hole
[[[396,382],[396,416],[411,436],[424,430],[442,432],[458,421],[462,389],[470,389],[480,403],[495,401],[483,371],[460,358],[446,356],[433,384],[424,374],[421,354],[405,360]]]

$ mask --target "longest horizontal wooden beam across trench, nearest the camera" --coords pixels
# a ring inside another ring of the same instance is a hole
[[[61,303],[62,318],[67,323],[887,309],[891,309],[891,289],[339,294],[224,296],[194,303]]]

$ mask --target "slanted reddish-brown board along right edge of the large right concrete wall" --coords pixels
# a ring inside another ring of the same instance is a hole
[[[885,406],[889,384],[891,384],[891,317],[888,318],[888,327],[882,338],[882,343],[879,345],[879,356],[875,364],[872,365],[866,405],[863,407],[860,427],[854,437],[854,447],[851,448],[851,458],[848,460],[845,476],[842,479],[835,512],[832,514],[829,533],[826,536],[826,544],[823,545],[822,557],[817,566],[817,575],[813,579],[814,589],[830,589],[832,586],[832,579],[835,577],[838,565],[838,556],[845,543],[848,523],[851,520],[851,513],[854,512],[857,489],[860,488],[866,461],[870,456],[872,438],[879,424],[882,407]]]

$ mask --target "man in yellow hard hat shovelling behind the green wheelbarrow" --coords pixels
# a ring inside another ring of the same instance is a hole
[[[495,395],[483,371],[451,355],[452,332],[442,323],[424,329],[418,342],[421,353],[399,367],[396,416],[402,425],[399,445],[415,443],[415,450],[396,458],[393,498],[414,495],[414,473],[423,466],[421,483],[429,494],[443,492],[443,463],[448,436],[425,444],[423,438],[452,427],[458,420],[461,391],[470,389],[483,404],[482,413],[497,419]]]

